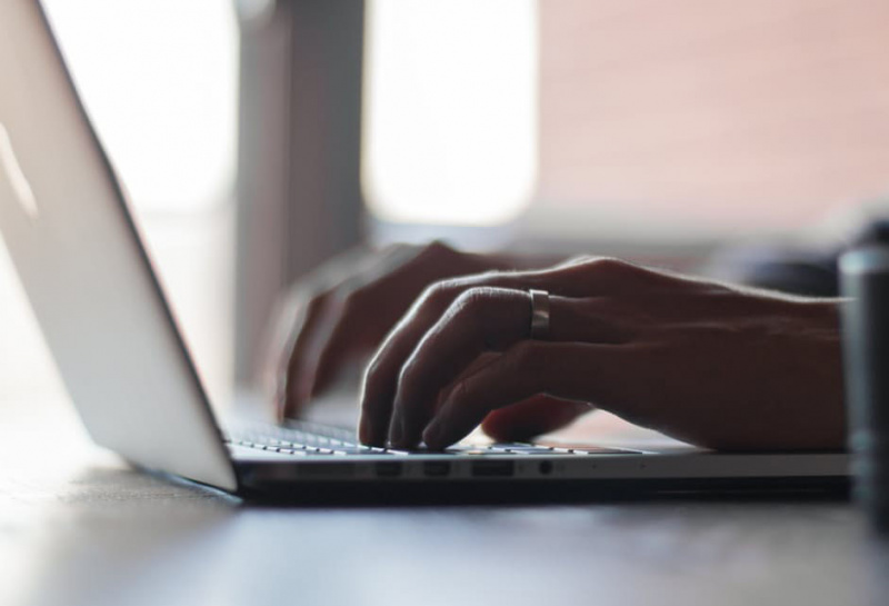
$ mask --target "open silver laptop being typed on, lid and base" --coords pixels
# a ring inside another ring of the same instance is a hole
[[[846,484],[841,453],[542,444],[400,451],[362,446],[351,428],[220,424],[37,1],[0,2],[0,232],[89,434],[144,469],[306,501]]]

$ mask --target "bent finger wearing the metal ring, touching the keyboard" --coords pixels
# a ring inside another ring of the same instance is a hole
[[[590,314],[595,300],[550,297],[553,341],[622,342],[619,320]],[[389,439],[410,447],[433,414],[438,394],[481,354],[505,351],[528,339],[530,296],[521,290],[473,288],[461,295],[404,362],[394,396]]]

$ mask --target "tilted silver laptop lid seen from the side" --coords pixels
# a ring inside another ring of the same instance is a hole
[[[236,478],[121,189],[37,2],[0,2],[0,232],[97,443]]]

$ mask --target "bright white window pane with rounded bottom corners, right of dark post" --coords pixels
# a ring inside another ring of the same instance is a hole
[[[368,3],[362,182],[384,220],[496,225],[537,173],[536,0]]]

